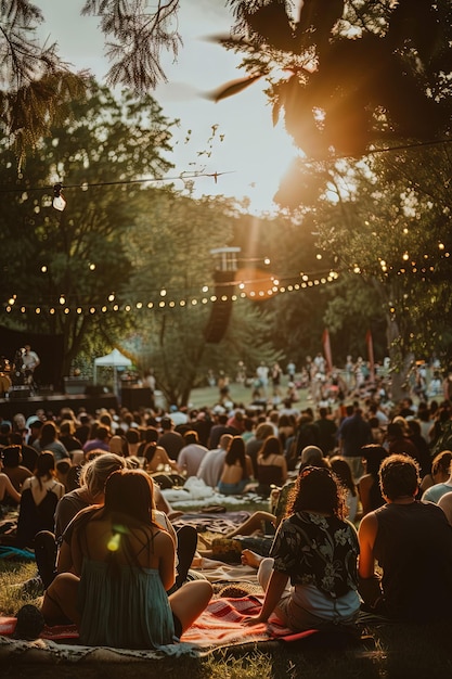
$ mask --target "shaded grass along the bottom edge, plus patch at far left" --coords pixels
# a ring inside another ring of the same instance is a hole
[[[35,575],[34,562],[0,561],[0,613],[14,615],[24,603],[39,605],[39,598],[23,595],[13,586]],[[432,588],[432,595],[440,595]],[[53,679],[443,679],[452,676],[452,625],[367,627],[371,637],[344,644],[320,635],[297,644],[274,642],[268,646],[220,650],[205,658],[167,658],[124,664],[80,663],[18,664],[3,661],[0,677],[29,679],[30,672]],[[130,670],[130,674],[129,674]]]

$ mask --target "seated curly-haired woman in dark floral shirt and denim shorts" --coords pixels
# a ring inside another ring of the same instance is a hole
[[[266,598],[245,625],[274,613],[293,631],[338,626],[354,630],[360,610],[358,536],[345,518],[345,490],[333,472],[307,466],[299,474],[270,558],[244,550],[242,563],[258,567]],[[290,580],[290,587],[287,587]]]

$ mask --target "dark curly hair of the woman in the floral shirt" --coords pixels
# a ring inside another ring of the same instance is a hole
[[[346,490],[330,469],[306,466],[298,475],[288,497],[286,516],[306,511],[346,517]]]

